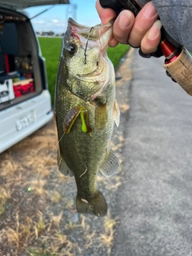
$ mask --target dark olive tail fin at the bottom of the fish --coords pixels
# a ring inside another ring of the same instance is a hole
[[[93,214],[98,217],[103,217],[107,212],[106,199],[99,190],[97,190],[94,197],[89,200],[77,195],[76,206],[79,214]]]

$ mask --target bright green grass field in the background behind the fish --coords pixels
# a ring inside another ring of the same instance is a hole
[[[58,60],[61,51],[62,38],[38,38],[42,49],[42,56],[46,58],[46,70],[48,77],[49,90],[51,94],[51,102],[54,104],[54,85],[58,71]],[[114,48],[108,48],[107,54],[114,64],[114,68],[118,66],[121,58],[129,50],[127,45],[118,45]]]

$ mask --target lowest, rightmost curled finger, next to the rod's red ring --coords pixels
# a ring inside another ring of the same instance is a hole
[[[151,54],[158,49],[158,44],[161,40],[161,28],[162,22],[157,20],[142,38],[141,50],[143,54]]]

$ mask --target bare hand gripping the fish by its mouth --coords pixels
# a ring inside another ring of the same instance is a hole
[[[98,15],[102,24],[109,22],[117,15],[112,9],[104,9],[96,2]],[[129,43],[133,47],[141,47],[143,54],[151,54],[158,49],[161,39],[162,23],[158,20],[158,13],[152,2],[147,2],[142,10],[134,18],[130,10],[122,10],[114,21],[114,37],[110,41],[110,46],[117,46]]]

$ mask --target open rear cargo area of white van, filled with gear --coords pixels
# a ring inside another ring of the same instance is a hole
[[[0,8],[0,110],[46,89],[44,62],[38,51],[29,19]]]

